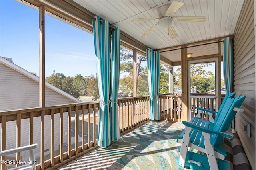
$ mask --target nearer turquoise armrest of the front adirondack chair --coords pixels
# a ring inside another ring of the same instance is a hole
[[[211,129],[208,129],[208,128],[205,128],[205,127],[201,127],[199,125],[195,125],[193,123],[190,123],[190,122],[186,122],[186,121],[182,121],[183,125],[185,126],[188,126],[188,127],[191,127],[192,129],[197,129],[197,130],[200,130],[202,132],[206,132],[206,133],[209,133],[209,134],[216,134],[216,135],[220,135],[222,137],[227,137],[229,139],[232,139],[233,136],[229,133],[226,133],[226,132],[218,132],[218,131],[214,131],[214,130],[211,130]]]

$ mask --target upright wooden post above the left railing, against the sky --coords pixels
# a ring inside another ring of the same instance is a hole
[[[39,92],[40,107],[45,107],[45,31],[44,6],[39,7]]]

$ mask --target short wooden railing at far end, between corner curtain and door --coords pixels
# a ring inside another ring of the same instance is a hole
[[[160,120],[181,121],[181,95],[159,95]]]

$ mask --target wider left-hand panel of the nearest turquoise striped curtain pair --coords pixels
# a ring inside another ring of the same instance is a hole
[[[92,24],[100,93],[98,146],[102,147],[111,143],[109,121],[110,37],[108,21],[100,21],[100,17],[95,18],[96,20],[92,20]]]

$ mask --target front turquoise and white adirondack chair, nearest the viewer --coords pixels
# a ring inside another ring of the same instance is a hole
[[[233,134],[230,123],[237,112],[243,112],[239,107],[246,96],[227,98],[222,104],[214,123],[194,117],[190,122],[182,121],[185,125],[185,133],[178,139],[182,139],[179,165],[188,166],[194,170],[226,170],[228,162],[224,160],[226,150],[224,137],[232,139]],[[177,139],[177,141],[178,141]],[[190,152],[188,147],[201,152]]]

